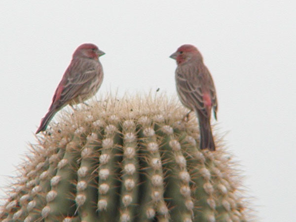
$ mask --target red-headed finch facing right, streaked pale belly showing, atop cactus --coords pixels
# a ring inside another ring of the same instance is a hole
[[[82,44],[75,50],[36,134],[44,131],[54,114],[63,107],[82,103],[96,94],[103,81],[103,68],[99,57],[104,54],[91,43]]]

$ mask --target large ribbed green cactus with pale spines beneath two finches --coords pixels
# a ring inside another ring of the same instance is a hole
[[[249,221],[222,140],[199,149],[197,119],[166,96],[108,96],[73,112],[31,145],[2,222]]]

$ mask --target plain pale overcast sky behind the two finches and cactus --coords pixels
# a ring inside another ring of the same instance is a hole
[[[214,78],[219,132],[228,132],[260,221],[295,221],[295,14],[292,0],[2,0],[0,186],[35,143],[78,45],[106,52],[98,96],[158,87],[176,96],[169,55],[191,43]]]

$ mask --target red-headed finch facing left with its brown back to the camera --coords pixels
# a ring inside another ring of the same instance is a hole
[[[182,45],[170,58],[177,61],[175,72],[178,96],[185,107],[195,111],[199,121],[200,148],[215,150],[210,119],[217,119],[215,85],[200,52],[193,45]]]

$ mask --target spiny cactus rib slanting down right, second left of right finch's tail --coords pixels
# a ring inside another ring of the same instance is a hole
[[[166,159],[165,165],[170,171],[170,177],[165,178],[167,183],[165,197],[172,206],[170,211],[172,218],[180,222],[191,222],[193,198],[189,187],[190,175],[187,172],[186,159],[179,142],[180,136],[174,132],[170,125],[165,122],[156,124],[156,132],[163,138],[161,150],[163,150]]]

